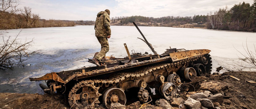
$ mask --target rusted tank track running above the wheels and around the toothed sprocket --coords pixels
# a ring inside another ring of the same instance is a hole
[[[184,64],[184,63],[187,63],[190,61],[195,61],[199,57],[201,57],[201,56],[180,60],[180,61],[177,61],[174,63],[164,63],[164,64],[157,64],[157,65],[142,67],[142,68],[138,69],[136,72],[134,72],[134,71],[133,72],[120,72],[120,73],[116,73],[114,76],[112,76],[109,79],[92,79],[92,80],[84,80],[83,82],[88,83],[88,84],[94,84],[94,87],[97,86],[97,88],[102,87],[103,85],[105,85],[105,87],[108,87],[110,84],[115,86],[116,83],[119,83],[125,79],[126,80],[134,80],[134,79],[140,78],[141,76],[147,75],[147,74],[151,73],[152,71],[171,68],[171,67],[177,66],[179,64]],[[77,83],[72,88],[72,90],[77,89],[77,87],[80,85],[80,83],[81,82]],[[69,93],[69,97],[72,97],[73,94],[76,94],[76,92],[74,92],[72,90]],[[98,90],[97,90],[97,92],[98,92]],[[95,102],[95,103],[97,103],[97,102]],[[74,104],[74,101],[72,98],[69,98],[69,104],[70,105]],[[91,105],[93,105],[93,104],[91,104]]]

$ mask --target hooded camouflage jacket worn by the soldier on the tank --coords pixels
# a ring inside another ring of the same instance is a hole
[[[100,11],[94,25],[96,37],[107,37],[111,35],[109,14],[105,11]]]

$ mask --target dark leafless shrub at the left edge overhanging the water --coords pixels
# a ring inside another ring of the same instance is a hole
[[[12,69],[15,65],[19,65],[27,60],[24,57],[29,57],[30,54],[34,53],[29,50],[34,45],[33,39],[30,41],[25,40],[22,43],[20,39],[17,39],[18,35],[14,39],[10,36],[2,36],[3,43],[0,44],[0,69]]]

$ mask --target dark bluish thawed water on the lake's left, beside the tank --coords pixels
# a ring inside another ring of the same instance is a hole
[[[79,63],[88,63],[87,58],[91,58],[92,50],[68,49],[60,50],[57,55],[34,54],[25,61],[24,66],[15,67],[14,70],[0,70],[0,92],[11,93],[39,93],[43,94],[43,90],[39,87],[39,83],[45,81],[29,81],[29,77],[39,77],[46,73],[58,72],[77,67],[76,61]],[[87,55],[85,55],[87,54]]]

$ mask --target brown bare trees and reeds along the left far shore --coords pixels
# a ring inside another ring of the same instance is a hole
[[[33,27],[62,27],[74,26],[67,20],[40,19],[39,14],[33,13],[31,8],[18,8],[19,0],[0,1],[0,29],[17,29]]]

